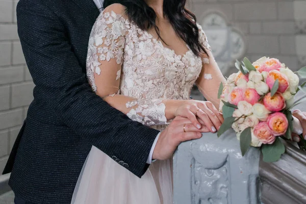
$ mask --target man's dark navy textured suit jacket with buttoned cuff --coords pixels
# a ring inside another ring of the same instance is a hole
[[[13,164],[9,184],[25,201],[70,203],[92,145],[139,177],[147,170],[159,132],[110,107],[86,79],[88,40],[98,15],[92,0],[17,5],[18,34],[36,86],[5,172]]]

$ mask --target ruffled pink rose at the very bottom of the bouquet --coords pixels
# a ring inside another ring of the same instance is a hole
[[[272,144],[275,137],[266,122],[258,123],[253,130],[254,135],[264,144]]]

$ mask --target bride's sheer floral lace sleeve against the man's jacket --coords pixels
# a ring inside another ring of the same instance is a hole
[[[89,39],[87,75],[93,91],[112,107],[145,125],[166,124],[165,104],[161,99],[145,100],[120,95],[121,66],[130,21],[124,7],[113,4],[99,15]]]

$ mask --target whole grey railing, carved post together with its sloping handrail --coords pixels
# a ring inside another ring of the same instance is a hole
[[[306,154],[284,143],[286,153],[271,164],[253,147],[242,157],[232,130],[182,143],[173,161],[174,203],[306,203]]]

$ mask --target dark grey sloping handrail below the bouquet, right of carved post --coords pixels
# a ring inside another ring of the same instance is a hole
[[[265,163],[261,156],[261,200],[265,204],[306,203],[306,153],[291,143],[284,144],[286,153],[281,160]]]

